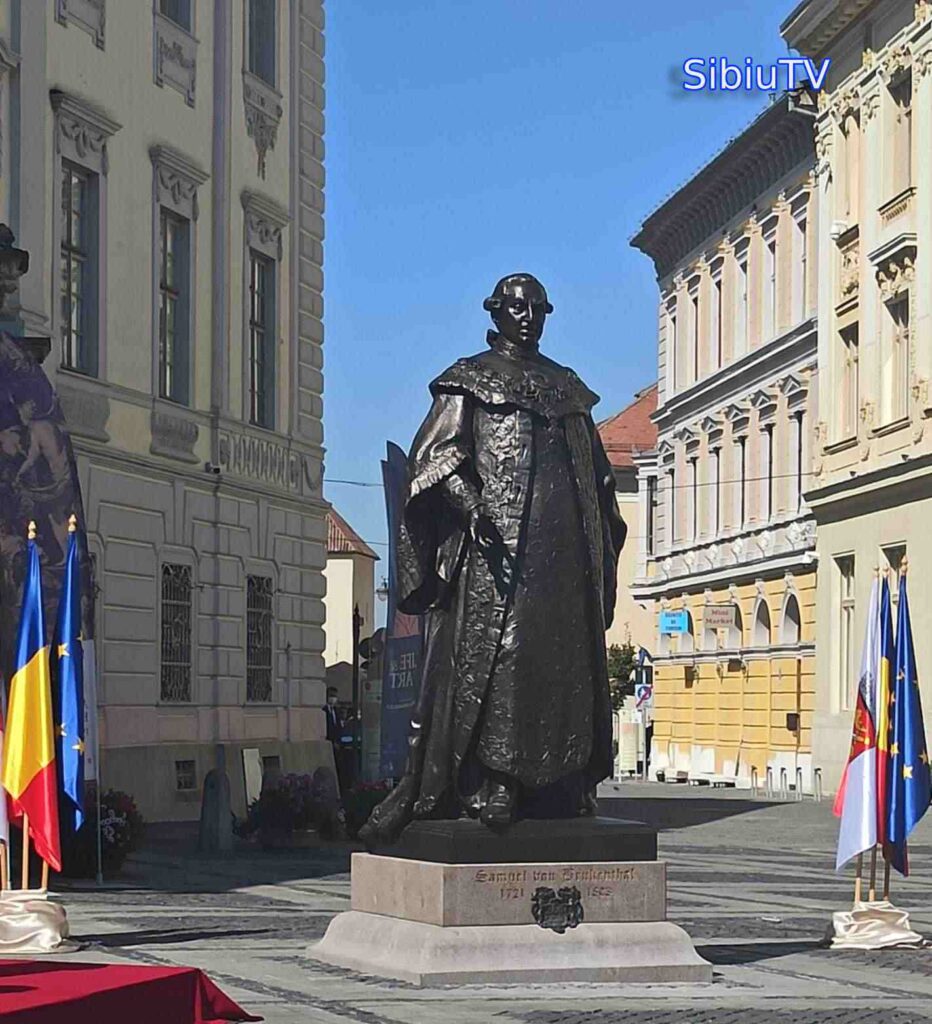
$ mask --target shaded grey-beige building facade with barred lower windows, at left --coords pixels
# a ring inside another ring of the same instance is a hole
[[[100,778],[194,817],[324,742],[322,0],[0,0],[13,333],[72,433]]]

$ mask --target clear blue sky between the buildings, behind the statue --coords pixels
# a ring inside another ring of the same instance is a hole
[[[682,63],[770,63],[794,5],[328,3],[329,480],[376,482],[385,441],[407,450],[430,379],[484,347],[482,299],[505,273],[544,282],[543,347],[602,396],[597,417],[654,379],[653,268],[628,240],[767,102],[685,93]],[[380,488],[325,494],[385,541]]]

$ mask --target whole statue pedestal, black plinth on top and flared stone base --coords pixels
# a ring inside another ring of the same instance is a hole
[[[645,825],[523,821],[497,836],[472,821],[419,822],[390,849],[352,855],[352,909],[311,956],[416,985],[712,980],[666,920],[666,864]],[[533,859],[509,857],[531,849]]]

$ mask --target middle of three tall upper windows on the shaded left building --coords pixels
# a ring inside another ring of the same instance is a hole
[[[189,324],[188,223],[162,210],[159,226],[159,396],[187,401]]]

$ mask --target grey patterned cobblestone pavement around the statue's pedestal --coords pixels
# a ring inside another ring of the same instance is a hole
[[[154,829],[119,885],[63,891],[73,959],[187,964],[270,1024],[932,1024],[932,947],[837,952],[828,803],[763,803],[734,791],[628,784],[602,810],[647,820],[669,864],[669,915],[715,965],[711,985],[513,985],[421,990],[306,955],[349,907],[348,850],[185,853],[192,829]],[[930,815],[932,817],[932,815]],[[893,900],[932,938],[932,821]]]

